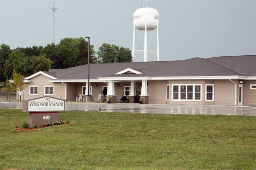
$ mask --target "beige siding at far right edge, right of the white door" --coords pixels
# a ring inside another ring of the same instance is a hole
[[[256,80],[243,81],[243,105],[256,106],[256,90],[250,89],[251,84],[256,84]]]

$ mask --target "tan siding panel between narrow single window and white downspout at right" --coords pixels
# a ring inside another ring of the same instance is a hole
[[[233,81],[236,82],[236,80]],[[215,80],[214,87],[215,105],[235,105],[235,84],[233,82],[230,80]]]

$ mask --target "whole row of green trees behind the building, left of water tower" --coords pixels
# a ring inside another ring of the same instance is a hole
[[[96,56],[97,54],[97,56]],[[103,43],[99,51],[90,45],[90,63],[131,62],[131,50]],[[59,44],[11,49],[0,45],[0,82],[13,78],[13,70],[27,77],[38,71],[88,64],[88,42],[83,38],[64,38]]]

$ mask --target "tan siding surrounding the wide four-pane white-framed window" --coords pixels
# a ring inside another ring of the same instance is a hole
[[[204,105],[204,80],[170,80],[170,100],[169,104],[171,105]],[[181,84],[181,85],[189,85],[189,84],[201,84],[202,94],[201,101],[172,101],[172,84]]]

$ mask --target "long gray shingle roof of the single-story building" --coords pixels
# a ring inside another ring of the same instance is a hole
[[[131,68],[143,74],[116,74]],[[58,79],[87,79],[88,65],[50,70]],[[47,73],[47,72],[45,72]],[[47,73],[47,74],[48,74]],[[180,61],[90,64],[90,79],[98,77],[256,76],[256,55],[192,58]]]

